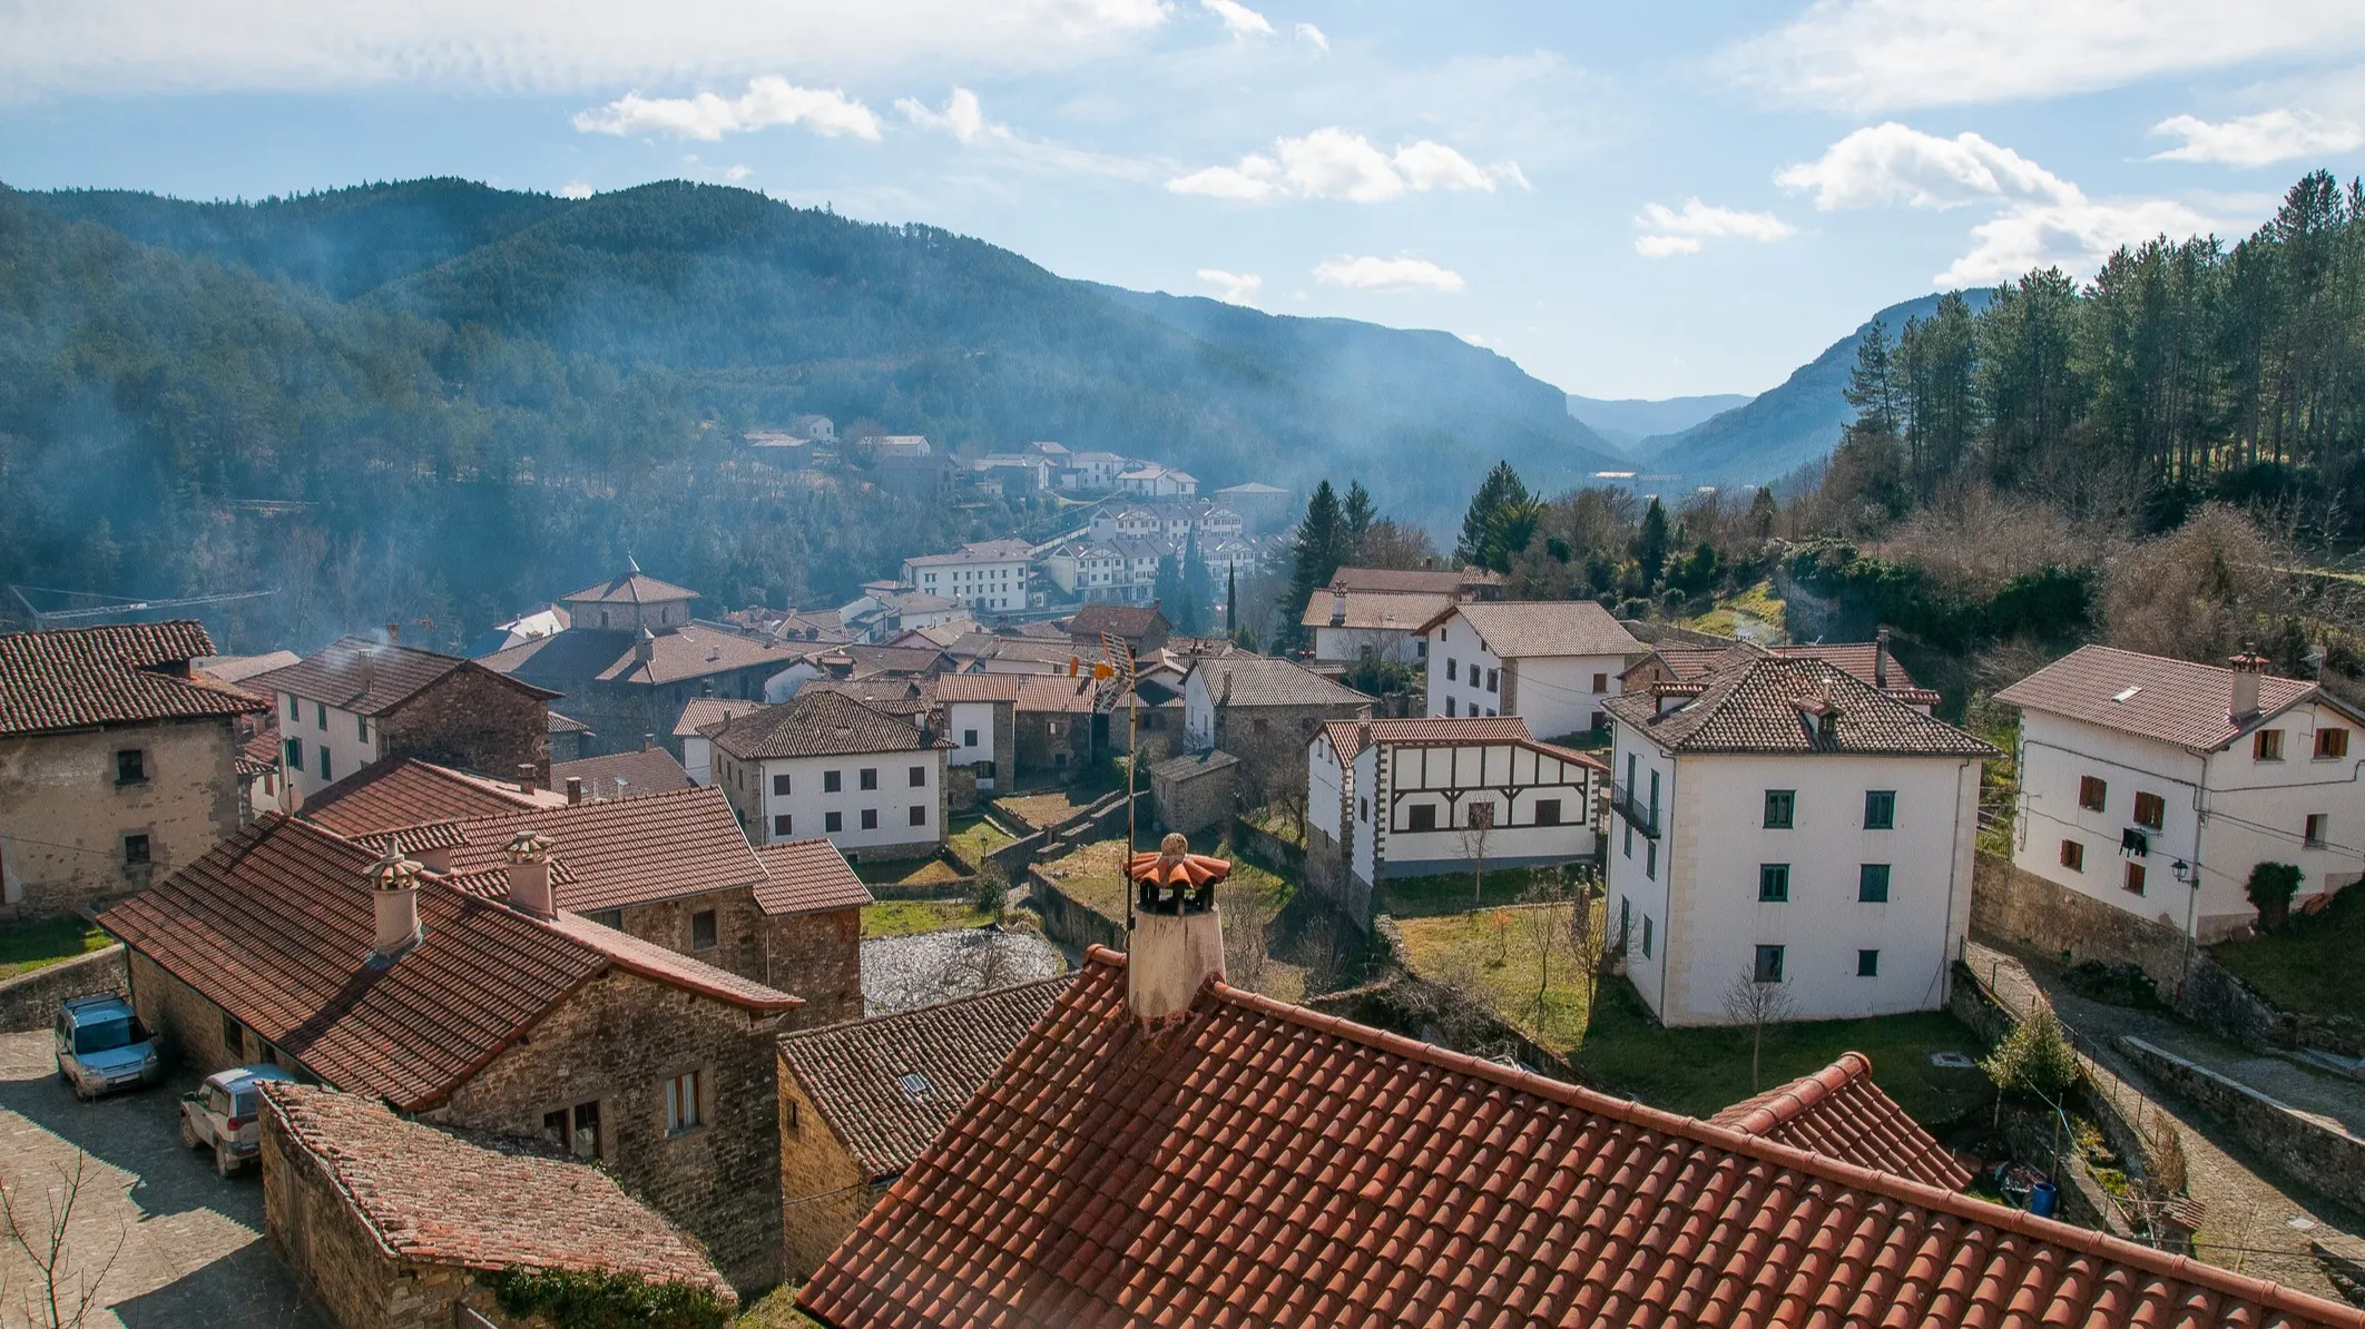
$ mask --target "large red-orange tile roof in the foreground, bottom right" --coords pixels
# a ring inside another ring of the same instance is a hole
[[[804,1284],[837,1329],[2365,1327],[2365,1310],[1201,988],[1081,977]]]

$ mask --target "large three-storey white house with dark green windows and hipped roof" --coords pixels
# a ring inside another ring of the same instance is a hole
[[[1743,979],[1788,1019],[1946,1003],[1994,747],[1755,646],[1606,709],[1608,927],[1663,1024],[1729,1024]]]

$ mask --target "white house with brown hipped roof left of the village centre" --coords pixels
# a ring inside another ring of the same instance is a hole
[[[825,835],[854,858],[944,847],[946,754],[927,717],[894,717],[804,688],[710,735],[714,785],[757,844]]]

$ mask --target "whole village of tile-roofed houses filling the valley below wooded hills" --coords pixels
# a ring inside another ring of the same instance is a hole
[[[1291,494],[972,473],[1078,525],[475,655],[0,636],[9,1305],[2365,1324],[2365,1045],[2242,979],[2365,875],[2365,712],[2081,646],[2006,750],[1887,629],[1433,558],[1268,655],[1154,591]]]

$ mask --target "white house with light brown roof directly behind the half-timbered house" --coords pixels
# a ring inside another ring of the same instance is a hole
[[[1516,714],[1530,733],[1601,728],[1646,648],[1592,601],[1457,603],[1426,624],[1428,714]]]

